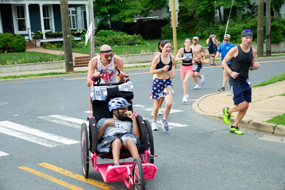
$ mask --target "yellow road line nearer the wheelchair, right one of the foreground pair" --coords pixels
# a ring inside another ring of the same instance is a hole
[[[106,183],[101,183],[101,182],[93,180],[93,179],[85,178],[83,175],[78,175],[76,173],[73,173],[71,171],[62,169],[62,168],[57,167],[57,166],[53,166],[53,165],[48,164],[48,163],[44,163],[43,162],[43,163],[40,163],[38,165],[42,166],[42,167],[45,167],[45,168],[48,168],[48,169],[51,169],[53,171],[59,172],[61,174],[67,175],[67,176],[72,177],[74,179],[78,179],[80,181],[84,181],[86,183],[89,183],[89,184],[94,185],[96,187],[100,187],[100,188],[105,189],[105,190],[113,190],[113,189],[115,189],[112,186],[107,186]]]

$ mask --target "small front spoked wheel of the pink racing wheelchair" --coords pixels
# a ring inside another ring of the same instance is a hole
[[[143,166],[139,158],[133,162],[133,190],[145,190]]]

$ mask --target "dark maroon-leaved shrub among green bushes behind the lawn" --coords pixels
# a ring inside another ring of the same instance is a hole
[[[132,27],[134,34],[141,34],[144,39],[161,38],[162,27],[168,24],[166,19],[139,19]]]

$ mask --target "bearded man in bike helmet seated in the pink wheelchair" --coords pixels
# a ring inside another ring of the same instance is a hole
[[[141,131],[132,111],[131,104],[124,98],[114,98],[109,101],[109,111],[112,118],[102,118],[97,123],[97,151],[106,154],[112,151],[114,165],[119,166],[121,148],[129,150],[133,159],[139,158],[137,146],[141,145]],[[130,118],[133,122],[126,120]],[[109,170],[112,165],[108,166]]]

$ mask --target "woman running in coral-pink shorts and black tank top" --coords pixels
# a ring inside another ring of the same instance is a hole
[[[180,48],[176,57],[175,61],[182,60],[182,66],[180,67],[180,75],[182,79],[182,87],[184,91],[182,102],[187,102],[187,98],[189,95],[187,94],[188,89],[188,80],[192,76],[193,73],[193,66],[192,64],[195,63],[194,59],[197,57],[196,51],[192,51],[192,48],[190,48],[191,40],[189,38],[186,38],[184,40],[184,48]],[[181,55],[182,58],[179,58]]]

